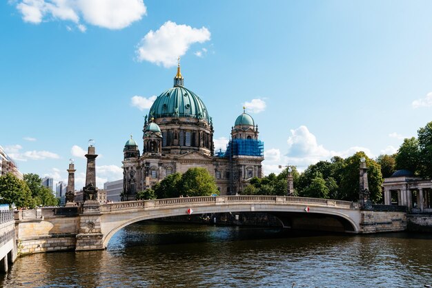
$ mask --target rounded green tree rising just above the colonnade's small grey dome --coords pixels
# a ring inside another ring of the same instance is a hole
[[[407,169],[415,174],[419,172],[420,148],[415,137],[405,138],[395,157],[396,169]]]

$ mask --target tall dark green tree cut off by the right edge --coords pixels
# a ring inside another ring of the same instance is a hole
[[[420,175],[432,178],[432,121],[418,130]]]

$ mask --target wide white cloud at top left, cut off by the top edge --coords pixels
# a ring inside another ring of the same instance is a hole
[[[19,0],[17,10],[23,21],[72,21],[81,32],[86,31],[86,26],[80,24],[81,18],[101,28],[122,29],[146,14],[142,0]],[[66,29],[70,30],[70,26]]]

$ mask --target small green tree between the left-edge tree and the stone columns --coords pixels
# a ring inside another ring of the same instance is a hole
[[[56,206],[59,200],[52,194],[52,190],[42,185],[42,179],[37,174],[24,174],[24,181],[32,192],[36,205]]]

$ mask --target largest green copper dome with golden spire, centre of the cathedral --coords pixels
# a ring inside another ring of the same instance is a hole
[[[206,105],[194,92],[184,88],[180,67],[174,78],[174,87],[160,94],[150,108],[149,118],[187,117],[210,123]]]

